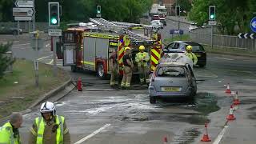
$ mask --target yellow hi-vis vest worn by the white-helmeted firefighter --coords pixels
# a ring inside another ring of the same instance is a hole
[[[63,123],[65,118],[62,116],[56,115],[56,124],[58,125],[57,134],[56,134],[56,144],[63,144]],[[45,131],[45,124],[43,118],[35,118],[35,124],[38,126],[38,138],[37,144],[42,144],[43,134]]]

